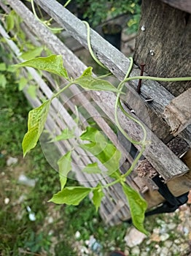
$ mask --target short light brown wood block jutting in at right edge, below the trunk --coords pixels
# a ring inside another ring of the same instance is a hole
[[[191,124],[191,88],[171,100],[165,107],[164,116],[175,136]]]

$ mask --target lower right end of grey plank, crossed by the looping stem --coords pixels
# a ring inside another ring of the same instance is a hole
[[[98,95],[97,97],[95,95]],[[101,94],[99,92],[95,92],[93,98],[97,99],[98,105],[105,110],[106,113],[109,114],[109,118],[114,121],[114,97],[113,94],[105,93]],[[124,106],[125,108],[125,106]],[[130,113],[130,110],[125,108],[125,110]],[[141,130],[138,124],[134,123],[128,118],[125,118],[125,115],[119,113],[120,122],[122,127],[128,131],[128,135],[134,140],[141,140]],[[153,167],[156,168],[157,172],[160,173],[163,178],[168,181],[174,176],[179,176],[181,173],[187,172],[188,168],[186,165],[184,167],[182,164],[179,164],[179,158],[175,156],[175,154],[167,147],[164,143],[162,143],[157,136],[152,133],[147,127],[147,135],[148,140],[151,141],[149,146],[147,146],[146,151],[144,152],[144,156],[152,163]],[[140,151],[140,146],[135,145],[136,148]],[[174,167],[173,167],[174,165]],[[178,174],[179,173],[179,174]]]

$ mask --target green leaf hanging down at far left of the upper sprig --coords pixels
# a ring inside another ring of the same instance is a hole
[[[28,113],[28,132],[23,138],[23,155],[36,146],[39,140],[44,124],[47,120],[47,114],[50,107],[50,100],[45,101],[38,108],[34,108]]]

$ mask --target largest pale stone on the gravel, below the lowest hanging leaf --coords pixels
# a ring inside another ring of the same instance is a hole
[[[144,235],[144,233],[141,233],[139,230],[136,230],[135,227],[132,227],[130,232],[126,234],[124,241],[126,242],[127,246],[132,248],[133,246],[141,244],[145,238],[147,238],[147,236]]]

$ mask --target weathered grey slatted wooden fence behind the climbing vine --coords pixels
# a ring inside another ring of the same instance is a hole
[[[66,48],[55,34],[47,29],[34,17],[33,13],[20,0],[7,0],[9,6],[17,12],[23,19],[22,29],[25,31],[26,36],[34,45],[46,45],[47,48],[52,50],[52,53],[61,54],[63,56],[64,65],[69,70],[69,75],[73,78],[81,75],[86,68],[85,64],[80,61],[74,53]],[[71,34],[71,37],[85,48],[87,48],[87,28],[81,20],[71,14],[55,0],[38,0],[35,1],[42,9],[47,12],[58,24]],[[5,12],[9,9],[0,3],[1,8]],[[2,25],[0,25],[0,34],[7,40],[9,50],[15,55],[15,61],[22,61],[20,59],[20,50],[15,45],[15,42],[9,39],[9,35]],[[119,50],[114,48],[109,42],[106,42],[99,34],[91,29],[91,45],[95,55],[98,59],[114,74],[118,80],[125,77],[125,72],[128,70],[130,61]],[[133,66],[130,76],[139,75],[139,68]],[[30,97],[27,90],[24,90],[28,101],[33,107],[42,104],[44,98],[50,99],[53,91],[56,89],[54,78],[47,72],[43,72],[42,77],[36,70],[32,68],[23,69],[23,75],[31,74],[36,83],[39,85],[36,99]],[[147,74],[146,74],[147,75]],[[46,82],[44,82],[44,80]],[[66,83],[60,80],[59,83]],[[159,173],[163,180],[168,184],[168,188],[175,196],[184,194],[191,189],[191,174],[190,174],[190,145],[191,145],[191,118],[190,118],[190,101],[186,101],[185,105],[180,105],[185,95],[190,95],[190,90],[179,97],[174,97],[159,83],[151,80],[144,80],[141,95],[137,94],[136,89],[137,81],[131,80],[126,85],[127,94],[122,97],[123,107],[130,113],[134,110],[135,115],[145,125],[147,134],[151,144],[147,146],[144,152],[144,157],[147,162],[142,162],[142,168],[149,162],[152,165],[152,173]],[[148,102],[147,99],[152,99]],[[122,153],[123,165],[121,171],[126,170],[133,161],[133,153],[130,151],[130,143],[120,135],[117,138],[111,126],[114,124],[114,102],[115,95],[105,91],[82,91],[77,86],[71,86],[67,94],[62,94],[59,99],[54,99],[50,108],[50,114],[47,118],[46,129],[55,135],[61,133],[66,128],[72,128],[76,125],[74,118],[76,118],[75,105],[82,106],[85,111],[80,111],[79,118],[84,126],[87,126],[87,116],[93,117],[94,121],[98,124],[101,130],[106,134],[109,140],[114,143]],[[189,103],[188,103],[189,102]],[[175,108],[175,107],[176,108]],[[187,115],[184,116],[187,110]],[[175,112],[174,112],[175,111]],[[58,114],[59,113],[59,114]],[[85,114],[86,113],[86,114]],[[174,118],[176,115],[176,118]],[[120,113],[120,122],[122,127],[132,138],[141,140],[141,131],[139,125],[130,121],[122,113]],[[80,131],[80,128],[79,128]],[[174,132],[174,136],[171,134]],[[119,140],[120,139],[120,140]],[[71,148],[74,141],[58,143],[58,150],[61,154]],[[182,148],[181,148],[182,145]],[[140,150],[138,145],[134,145],[137,150]],[[48,145],[45,148],[42,142],[42,149],[48,151]],[[47,147],[47,148],[46,148]],[[178,148],[178,152],[177,152]],[[51,148],[50,148],[51,150]],[[130,153],[129,153],[130,151]],[[51,157],[50,151],[47,152],[48,157]],[[182,157],[182,154],[184,156]],[[46,155],[46,153],[45,153]],[[84,157],[79,158],[79,155]],[[181,156],[181,158],[180,158]],[[52,165],[55,163],[52,159]],[[80,171],[80,167],[93,162],[92,156],[87,156],[82,149],[77,148],[73,158],[73,170],[76,173],[79,183],[84,186],[95,186],[98,180],[102,184],[110,181],[109,177],[104,179],[101,176],[86,175]],[[139,168],[140,169],[140,168]],[[157,206],[164,201],[164,198],[157,192],[157,186],[149,174],[140,176],[134,170],[133,173],[127,178],[127,183],[131,187],[139,190],[141,195],[147,200],[149,208]],[[100,209],[101,217],[110,225],[117,224],[121,219],[128,219],[130,217],[128,203],[123,196],[122,189],[119,185],[109,188],[106,191],[106,196],[101,203]]]

